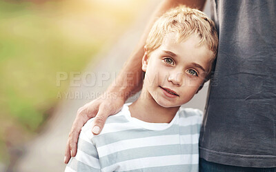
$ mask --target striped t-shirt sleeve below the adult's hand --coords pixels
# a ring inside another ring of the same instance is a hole
[[[88,121],[88,123],[90,122]],[[86,123],[86,126],[89,125],[88,123]],[[86,126],[83,126],[79,135],[77,155],[75,157],[71,157],[70,162],[66,166],[65,172],[101,171],[99,155],[95,145],[92,143],[90,135],[86,134],[88,132],[91,133],[91,131]]]

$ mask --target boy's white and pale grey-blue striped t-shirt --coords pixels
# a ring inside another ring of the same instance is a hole
[[[170,123],[149,123],[131,117],[128,106],[99,135],[91,132],[93,119],[83,126],[66,172],[198,171],[201,111],[180,108]]]

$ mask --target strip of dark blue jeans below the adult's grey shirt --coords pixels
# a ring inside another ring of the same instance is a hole
[[[242,166],[230,166],[208,162],[200,158],[199,172],[276,172],[276,168],[252,168]]]

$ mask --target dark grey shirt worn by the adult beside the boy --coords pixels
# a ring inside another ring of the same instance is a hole
[[[276,1],[212,0],[219,30],[200,157],[276,167]]]

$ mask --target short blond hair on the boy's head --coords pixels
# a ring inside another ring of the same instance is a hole
[[[211,64],[213,64],[213,60],[217,55],[217,30],[215,23],[203,12],[186,6],[178,6],[164,13],[152,26],[146,40],[145,46],[148,55],[161,46],[164,37],[170,32],[177,34],[177,42],[185,41],[191,35],[197,35],[200,39],[199,46],[206,45],[213,52],[211,61]],[[208,73],[210,73],[210,70]]]

